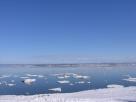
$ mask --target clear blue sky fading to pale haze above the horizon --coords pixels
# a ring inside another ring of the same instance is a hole
[[[136,0],[1,0],[0,63],[136,62]]]

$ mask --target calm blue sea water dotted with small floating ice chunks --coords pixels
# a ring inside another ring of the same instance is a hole
[[[136,86],[135,81],[124,80],[129,77],[136,78],[136,65],[75,67],[0,65],[0,95],[51,94],[56,93],[49,90],[54,88],[61,88],[61,93],[71,93],[107,88],[110,84]],[[23,82],[25,79],[36,81],[28,85]]]

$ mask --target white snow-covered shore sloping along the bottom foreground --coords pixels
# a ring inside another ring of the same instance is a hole
[[[63,94],[0,96],[0,102],[136,102],[136,86],[109,88]]]

